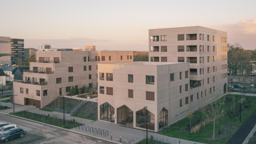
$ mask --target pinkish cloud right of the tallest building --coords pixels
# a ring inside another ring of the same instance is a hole
[[[251,20],[242,19],[234,24],[203,27],[227,32],[228,43],[240,43],[246,50],[256,49],[256,17]]]

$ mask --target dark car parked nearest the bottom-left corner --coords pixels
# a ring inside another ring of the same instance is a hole
[[[12,139],[15,139],[15,138],[18,138],[18,137],[24,137],[25,135],[25,132],[23,129],[21,128],[13,128],[13,129],[10,129],[6,132],[4,132],[4,134],[0,135],[0,141],[9,141],[9,140],[12,140]]]

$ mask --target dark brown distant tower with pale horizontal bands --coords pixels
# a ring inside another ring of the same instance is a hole
[[[11,39],[11,61],[17,64],[17,60],[24,59],[24,39]]]

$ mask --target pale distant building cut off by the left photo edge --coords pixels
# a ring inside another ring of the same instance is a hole
[[[11,64],[11,38],[0,36],[0,64]]]

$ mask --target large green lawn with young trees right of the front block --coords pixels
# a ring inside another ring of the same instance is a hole
[[[241,112],[241,124],[239,124],[239,100],[242,98],[242,95],[234,95],[235,96],[235,110],[236,115],[234,114],[234,100],[233,95],[225,96],[225,108],[224,108],[224,124],[223,124],[223,116],[221,116],[215,122],[215,134],[214,140],[213,137],[213,123],[206,125],[196,134],[188,134],[190,133],[190,119],[188,117],[183,118],[182,120],[172,124],[171,126],[164,128],[164,130],[160,131],[159,134],[184,139],[191,140],[202,143],[226,143],[228,139],[236,132],[236,130],[242,125],[242,123],[252,114],[252,112],[256,109],[256,99],[254,97],[243,96],[243,110]],[[224,97],[219,99],[223,101]],[[249,102],[251,99],[251,102]],[[205,109],[205,108],[204,108]],[[203,122],[204,112],[202,109],[194,112],[194,116],[191,119],[191,126],[195,126],[196,124]],[[205,116],[205,115],[204,115]]]

